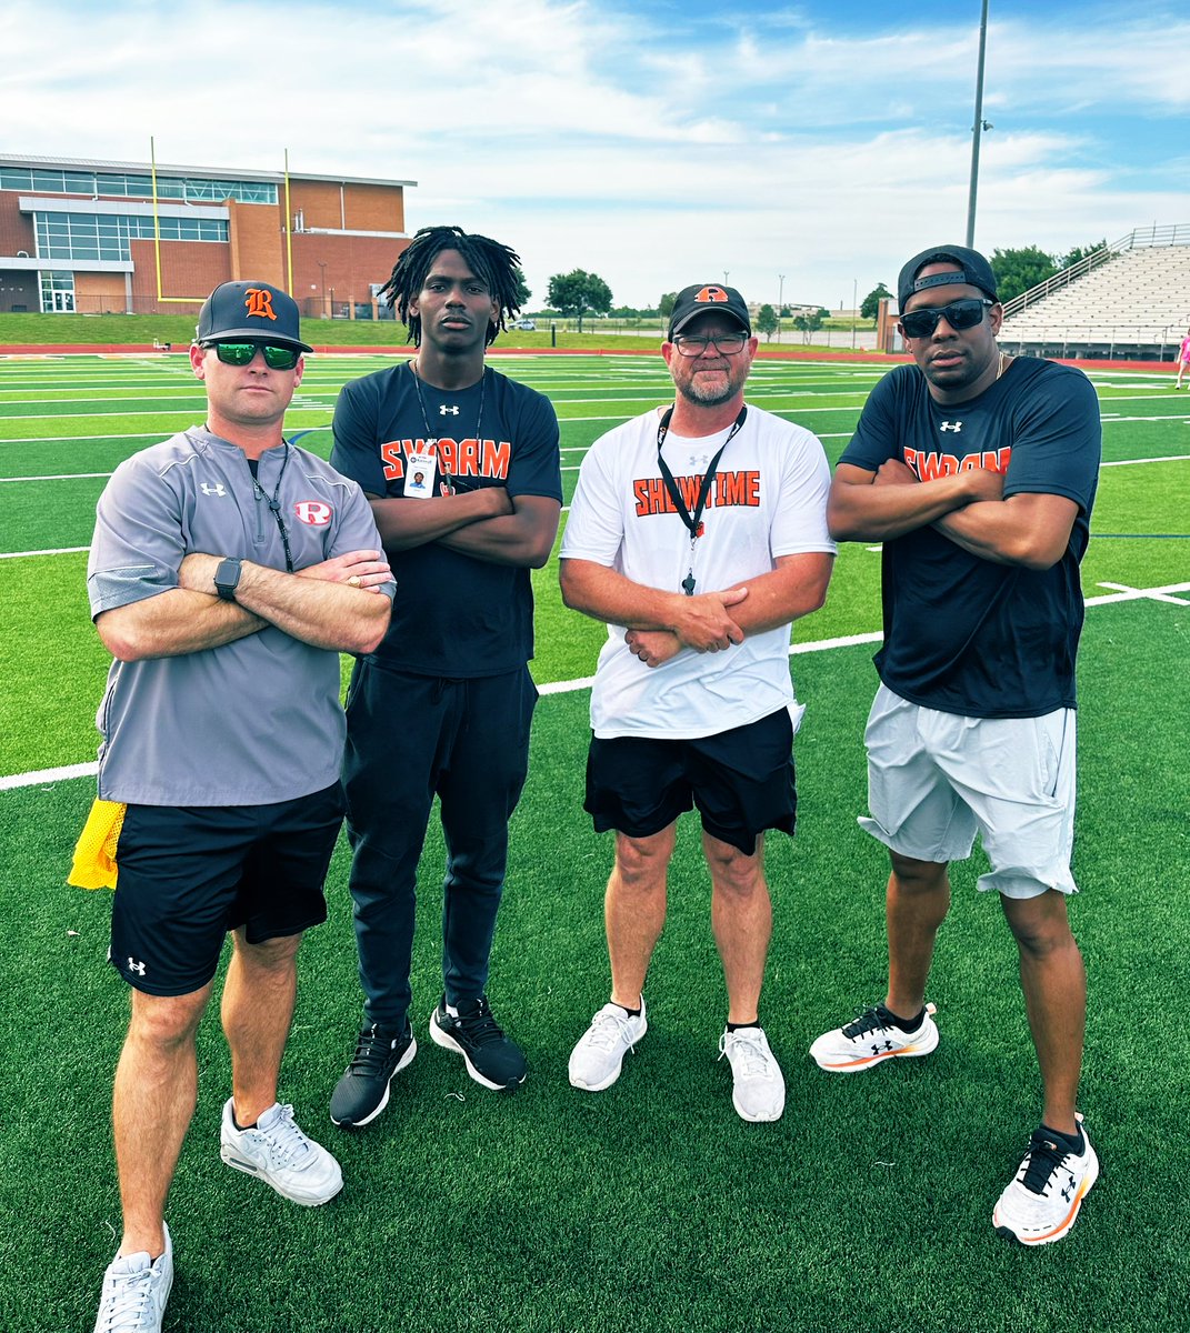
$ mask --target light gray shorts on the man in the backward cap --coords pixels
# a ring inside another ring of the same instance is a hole
[[[859,824],[915,861],[961,861],[975,834],[991,861],[978,886],[1006,898],[1077,893],[1074,709],[962,717],[880,685],[867,720],[867,802]]]

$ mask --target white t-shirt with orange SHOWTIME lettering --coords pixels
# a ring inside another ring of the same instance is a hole
[[[591,445],[579,469],[562,559],[590,560],[634,583],[680,592],[691,544],[658,467],[662,411],[626,421]],[[666,436],[662,452],[679,492],[690,497],[690,511],[698,479],[728,429],[699,440]],[[750,407],[715,473],[694,551],[696,592],[738,588],[774,569],[778,556],[834,555],[826,527],[830,468],[816,436]],[[603,740],[690,740],[796,705],[788,625],[751,635],[727,652],[683,648],[652,668],[628,651],[624,633],[623,625],[607,627],[591,692],[591,726]]]

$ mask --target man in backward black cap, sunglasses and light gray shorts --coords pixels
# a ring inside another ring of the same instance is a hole
[[[914,365],[876,385],[835,472],[831,533],[883,543],[884,643],[868,718],[870,818],[888,848],[888,992],[810,1054],[855,1073],[938,1045],[926,980],[950,905],[947,862],[977,832],[1021,953],[1042,1122],[993,1212],[1026,1245],[1063,1237],[1098,1174],[1075,1110],[1086,1017],[1075,892],[1078,565],[1099,467],[1086,376],[995,341],[987,260],[914,256],[898,284]]]

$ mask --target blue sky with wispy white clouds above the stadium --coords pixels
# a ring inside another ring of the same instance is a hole
[[[9,0],[0,151],[416,180],[534,303],[850,308],[962,241],[979,0]],[[990,0],[975,244],[1190,223],[1190,11]],[[784,280],[780,280],[784,275]],[[383,275],[380,275],[383,276]]]

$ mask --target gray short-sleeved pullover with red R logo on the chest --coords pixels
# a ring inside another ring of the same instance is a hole
[[[100,496],[87,567],[91,615],[177,587],[185,555],[293,569],[380,551],[356,483],[285,444],[253,485],[241,449],[193,428],[120,464]],[[387,592],[392,596],[395,584]],[[96,725],[99,794],[137,805],[265,805],[339,777],[339,653],[272,625],[177,657],[112,663]]]

